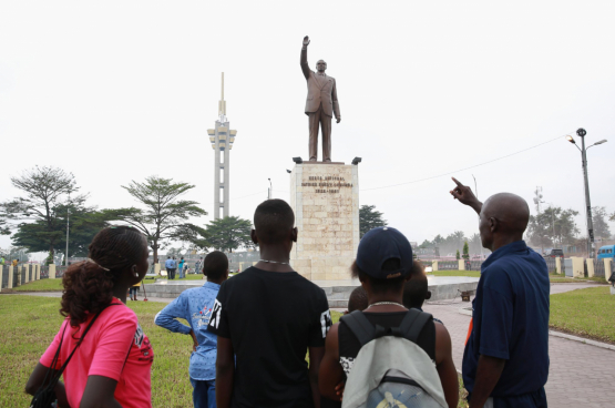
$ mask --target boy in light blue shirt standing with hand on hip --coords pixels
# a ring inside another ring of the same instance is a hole
[[[180,297],[162,309],[154,323],[173,333],[191,335],[194,353],[191,356],[189,376],[195,408],[216,407],[216,348],[217,336],[207,332],[219,286],[228,278],[228,259],[219,251],[205,257],[203,274],[207,283],[202,287],[182,292]],[[184,318],[189,327],[176,318]]]

